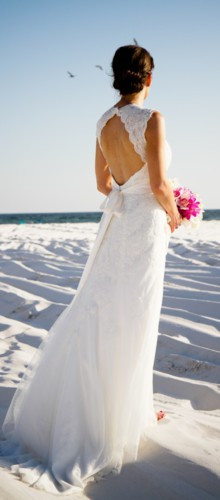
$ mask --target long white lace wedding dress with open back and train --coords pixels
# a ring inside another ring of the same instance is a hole
[[[123,185],[113,178],[76,294],[37,349],[2,427],[4,463],[55,494],[118,474],[158,425],[153,365],[171,230],[149,183],[152,110],[111,107],[97,122],[99,142],[115,113],[144,165]],[[166,155],[168,168],[167,143]]]

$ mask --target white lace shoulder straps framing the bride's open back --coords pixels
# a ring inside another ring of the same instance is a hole
[[[129,104],[128,106],[123,106],[117,108],[113,106],[103,113],[96,124],[96,136],[101,147],[101,132],[107,121],[117,114],[120,116],[122,122],[124,123],[125,129],[129,134],[129,139],[132,142],[136,153],[138,153],[142,160],[146,162],[146,138],[145,131],[147,127],[147,122],[151,117],[153,109],[141,108],[135,104]]]

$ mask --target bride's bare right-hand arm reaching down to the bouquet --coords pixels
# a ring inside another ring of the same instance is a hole
[[[154,111],[149,119],[145,137],[151,189],[170,216],[169,224],[173,232],[181,223],[181,217],[176,206],[173,190],[166,177],[165,123],[159,111]]]

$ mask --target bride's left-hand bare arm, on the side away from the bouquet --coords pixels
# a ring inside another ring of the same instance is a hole
[[[107,196],[112,190],[112,175],[99,146],[98,139],[96,139],[95,174],[98,191]]]

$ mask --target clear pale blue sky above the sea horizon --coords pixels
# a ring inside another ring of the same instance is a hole
[[[165,117],[169,177],[220,208],[219,20],[219,0],[0,0],[0,213],[99,210],[96,122],[119,94],[95,64],[110,73],[133,37],[154,57],[144,107]]]

